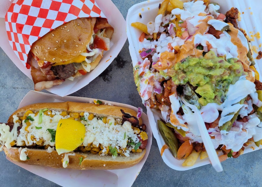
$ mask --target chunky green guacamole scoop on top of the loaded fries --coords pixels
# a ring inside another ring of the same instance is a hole
[[[198,102],[203,106],[207,103],[223,103],[229,85],[234,84],[240,76],[247,75],[237,58],[226,61],[213,51],[199,58],[187,57],[177,62],[166,74],[172,77],[176,85],[189,83],[197,87],[195,92],[200,95]]]

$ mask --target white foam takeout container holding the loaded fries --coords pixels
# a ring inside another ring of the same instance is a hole
[[[262,38],[259,36],[259,32],[262,30],[261,24],[258,24],[257,20],[262,19],[262,8],[257,5],[260,3],[260,0],[246,1],[246,0],[210,0],[211,2],[218,3],[220,5],[220,12],[225,14],[231,7],[237,7],[240,15],[239,15],[239,27],[244,29],[247,32],[251,40],[251,44],[253,46],[253,58],[256,62],[255,67],[258,72],[261,72],[262,65],[258,62],[262,61],[255,59],[258,55],[258,51],[262,51],[261,43]],[[162,0],[148,0],[138,4],[133,5],[127,13],[126,17],[126,26],[127,26],[127,39],[129,41],[129,51],[132,58],[132,64],[135,66],[138,61],[143,61],[143,59],[139,55],[139,36],[141,35],[141,31],[131,26],[132,22],[141,22],[147,24],[149,21],[154,21],[154,18],[157,15],[159,4],[162,3]],[[142,16],[140,18],[140,15]],[[259,17],[260,16],[260,17]],[[257,35],[256,35],[257,34]],[[156,113],[156,111],[150,109],[147,106],[147,115],[149,119],[149,123],[151,125],[151,129],[153,135],[156,139],[159,151],[161,152],[162,147],[164,146],[164,140],[162,136],[159,134],[157,127],[157,120],[161,118],[161,114]],[[261,149],[262,146],[257,147],[254,143],[249,144],[248,147],[245,148],[244,153],[252,152],[258,149]],[[196,163],[193,166],[182,166],[183,160],[175,159],[169,149],[165,149],[162,155],[163,161],[174,170],[189,170],[192,168],[197,168],[199,166],[203,166],[206,164],[210,164],[210,160],[208,158],[200,160],[197,159]]]

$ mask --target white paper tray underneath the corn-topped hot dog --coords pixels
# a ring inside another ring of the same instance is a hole
[[[100,99],[99,99],[100,100]],[[27,95],[20,102],[18,108],[23,106],[33,104],[33,103],[48,103],[48,102],[82,102],[82,103],[92,103],[93,98],[86,97],[75,97],[75,96],[65,96],[60,97],[58,95],[48,94],[44,92],[29,91]],[[107,103],[115,106],[121,106],[130,108],[132,110],[138,111],[138,108],[116,102],[110,102],[105,100],[100,100],[102,103]],[[138,176],[140,170],[142,169],[148,154],[150,152],[152,144],[152,131],[148,122],[148,118],[145,113],[142,113],[142,121],[146,124],[146,132],[148,134],[148,141],[146,146],[146,155],[144,158],[136,165],[131,168],[118,169],[118,170],[72,170],[67,168],[49,168],[44,166],[36,165],[26,165],[19,162],[11,162],[19,165],[20,167],[46,178],[49,181],[57,183],[60,186],[108,186],[108,187],[118,187],[118,186],[132,186],[136,177]]]

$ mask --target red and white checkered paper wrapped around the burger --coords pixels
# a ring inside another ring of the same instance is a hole
[[[26,66],[31,45],[73,19],[106,16],[95,0],[15,0],[5,15],[9,43]]]

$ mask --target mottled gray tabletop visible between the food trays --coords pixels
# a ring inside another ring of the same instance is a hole
[[[141,0],[113,0],[124,18],[128,9]],[[128,41],[111,65],[90,84],[71,94],[126,103],[143,107],[133,81]],[[6,122],[17,109],[22,98],[33,90],[33,82],[26,77],[0,48],[0,122]],[[113,90],[113,92],[112,92]],[[115,92],[114,92],[115,91]],[[46,92],[46,91],[43,91]],[[143,107],[144,111],[146,109]],[[153,138],[151,152],[133,186],[262,186],[262,150],[241,155],[237,159],[222,162],[224,171],[217,173],[212,166],[205,165],[187,171],[169,168],[161,158],[156,140]],[[44,178],[20,168],[0,152],[0,186],[55,187]],[[88,186],[88,184],[87,184]]]

